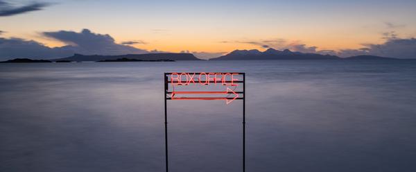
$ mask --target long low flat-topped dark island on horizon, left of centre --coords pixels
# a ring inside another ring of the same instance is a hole
[[[68,58],[59,58],[55,60],[71,61],[101,61],[116,60],[121,58],[136,60],[200,60],[191,53],[146,53],[146,54],[126,54],[126,55],[82,55],[74,54]]]

